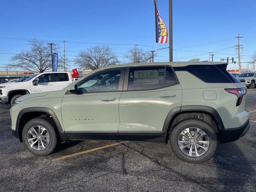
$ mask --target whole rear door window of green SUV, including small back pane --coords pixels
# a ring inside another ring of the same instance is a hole
[[[170,67],[132,67],[129,74],[128,90],[150,90],[176,84]]]

